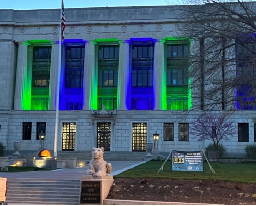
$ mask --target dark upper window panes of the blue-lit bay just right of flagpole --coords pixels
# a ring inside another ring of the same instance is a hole
[[[65,87],[83,87],[84,46],[67,46],[65,62]]]

